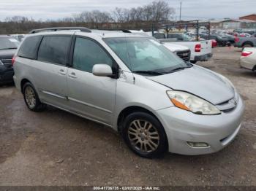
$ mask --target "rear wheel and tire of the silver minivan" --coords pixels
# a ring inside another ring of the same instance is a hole
[[[39,100],[37,91],[30,82],[26,82],[22,88],[23,98],[26,106],[33,112],[41,112],[45,109],[46,105],[42,104]]]

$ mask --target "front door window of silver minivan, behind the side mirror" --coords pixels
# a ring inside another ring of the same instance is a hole
[[[73,68],[81,71],[92,72],[92,67],[97,63],[113,66],[113,59],[96,42],[77,37],[73,55]]]

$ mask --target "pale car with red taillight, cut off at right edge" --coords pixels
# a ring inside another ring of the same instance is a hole
[[[240,58],[240,65],[244,69],[249,69],[252,71],[256,70],[256,48],[255,47],[244,48]]]

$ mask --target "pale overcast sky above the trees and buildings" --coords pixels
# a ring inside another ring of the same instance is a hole
[[[182,1],[182,19],[237,18],[256,13],[256,0],[165,0],[179,14]],[[70,17],[84,10],[111,11],[115,7],[138,7],[151,0],[0,0],[0,20],[14,15],[33,17],[36,20]]]

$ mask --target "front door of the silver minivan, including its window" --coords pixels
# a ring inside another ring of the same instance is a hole
[[[116,99],[116,79],[92,74],[94,64],[105,63],[114,68],[113,58],[93,39],[77,36],[68,69],[67,86],[72,111],[92,120],[111,125]]]

